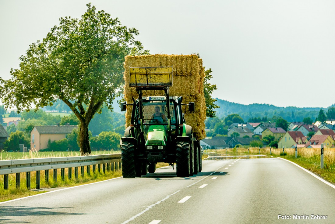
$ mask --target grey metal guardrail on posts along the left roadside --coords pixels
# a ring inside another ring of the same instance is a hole
[[[106,172],[106,168],[107,171],[114,171],[114,168],[115,170],[119,170],[121,168],[121,154],[2,160],[0,161],[0,175],[4,175],[4,189],[8,189],[9,174],[16,174],[16,187],[18,188],[20,186],[20,173],[26,173],[26,186],[30,189],[30,172],[36,171],[36,188],[40,189],[41,170],[45,171],[46,182],[49,182],[49,170],[54,170],[53,178],[57,181],[57,169],[61,169],[62,180],[64,180],[65,168],[68,168],[68,176],[71,179],[73,167],[75,178],[78,178],[78,167],[81,167],[81,175],[84,176],[85,166],[87,167],[86,172],[89,175],[90,166],[92,166],[92,172],[95,172],[96,165],[98,165],[98,172],[100,172],[101,164],[103,164],[104,173]]]

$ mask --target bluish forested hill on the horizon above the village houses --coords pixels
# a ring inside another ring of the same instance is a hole
[[[240,103],[232,103],[226,100],[216,98],[216,104],[220,108],[216,109],[216,117],[223,118],[229,114],[239,114],[245,122],[249,118],[257,117],[268,117],[269,119],[273,116],[282,117],[288,122],[302,121],[304,118],[310,117],[313,121],[318,117],[320,107],[278,107],[270,104],[258,104],[253,103],[244,105]],[[335,106],[333,104],[332,106]],[[322,108],[325,112],[327,108]]]

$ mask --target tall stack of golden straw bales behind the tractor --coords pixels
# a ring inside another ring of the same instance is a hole
[[[206,137],[205,119],[206,103],[204,97],[204,69],[202,59],[196,54],[192,55],[141,55],[126,56],[125,58],[125,87],[124,96],[127,103],[132,103],[132,97],[138,98],[136,88],[129,87],[130,67],[160,67],[173,66],[173,85],[170,87],[170,96],[183,96],[183,103],[195,102],[195,112],[189,112],[183,106],[185,120],[192,127],[197,140]],[[164,91],[143,91],[143,96],[164,96]],[[130,125],[131,106],[127,107],[126,127]]]

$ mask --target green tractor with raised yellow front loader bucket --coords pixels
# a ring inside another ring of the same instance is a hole
[[[136,88],[138,98],[121,103],[121,110],[131,106],[130,126],[120,140],[122,175],[135,178],[154,173],[156,163],[177,165],[177,176],[189,177],[201,171],[201,149],[186,124],[182,105],[189,111],[195,103],[182,103],[183,96],[170,96],[172,67],[129,69],[129,86]],[[164,96],[143,96],[143,91],[163,90]],[[130,109],[130,108],[129,108]]]

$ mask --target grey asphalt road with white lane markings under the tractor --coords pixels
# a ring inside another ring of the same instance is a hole
[[[0,204],[0,223],[320,222],[335,223],[335,188],[277,158],[203,161],[190,178],[169,167]]]

